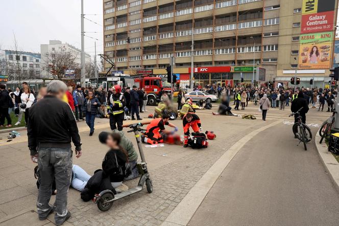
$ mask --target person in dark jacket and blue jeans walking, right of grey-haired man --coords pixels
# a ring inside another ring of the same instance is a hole
[[[88,91],[84,101],[84,109],[86,109],[86,124],[89,127],[89,136],[94,132],[95,116],[98,114],[98,107],[101,106],[98,98],[94,97],[93,91]]]

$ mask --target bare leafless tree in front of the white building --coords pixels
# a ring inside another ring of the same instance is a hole
[[[64,78],[66,70],[76,71],[79,68],[79,65],[76,63],[76,58],[77,56],[70,52],[52,51],[46,55],[46,70],[54,79]]]

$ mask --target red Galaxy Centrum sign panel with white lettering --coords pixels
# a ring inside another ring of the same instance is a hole
[[[318,33],[333,30],[334,11],[302,15],[301,33]]]

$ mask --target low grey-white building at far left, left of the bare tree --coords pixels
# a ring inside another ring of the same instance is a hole
[[[4,53],[6,60],[6,75],[9,79],[40,78],[40,53],[15,50],[5,50]]]

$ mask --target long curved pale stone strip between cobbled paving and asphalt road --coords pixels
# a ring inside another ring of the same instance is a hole
[[[245,137],[238,140],[233,146],[231,146],[212,166],[207,172],[198,180],[195,186],[186,194],[186,196],[179,202],[178,206],[172,211],[171,214],[162,222],[161,226],[181,226],[187,225],[197,209],[205,199],[220,174],[225,170],[228,164],[232,161],[233,157],[238,151],[255,135],[259,132],[268,129],[274,125],[281,123],[281,120],[277,120],[258,128]]]

